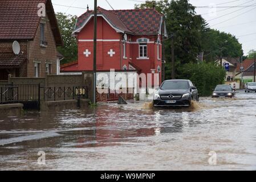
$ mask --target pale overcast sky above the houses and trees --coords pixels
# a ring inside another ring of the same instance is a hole
[[[143,0],[108,0],[108,2],[113,9],[133,9],[135,4],[142,3]],[[190,0],[189,2],[193,6],[218,6],[215,9],[201,7],[197,8],[196,11],[197,14],[202,14],[208,20],[210,27],[237,36],[239,42],[243,45],[245,54],[250,49],[256,49],[256,0]],[[94,0],[52,0],[52,3],[54,4],[55,12],[78,16],[86,11],[87,5],[89,5],[90,9],[94,7]],[[97,3],[98,6],[104,9],[111,9],[105,0],[98,0]],[[243,7],[230,8],[226,6]]]

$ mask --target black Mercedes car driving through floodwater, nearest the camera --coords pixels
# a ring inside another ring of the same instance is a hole
[[[190,106],[199,101],[197,88],[190,80],[166,80],[154,95],[154,106]]]

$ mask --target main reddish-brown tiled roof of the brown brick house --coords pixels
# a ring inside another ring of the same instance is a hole
[[[62,44],[51,0],[1,0],[0,40],[34,39],[40,21],[39,3],[46,4],[56,44]]]

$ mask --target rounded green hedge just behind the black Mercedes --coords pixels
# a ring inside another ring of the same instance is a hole
[[[197,87],[200,96],[210,96],[218,84],[223,84],[226,71],[213,63],[185,64],[180,68],[180,79],[189,79]]]

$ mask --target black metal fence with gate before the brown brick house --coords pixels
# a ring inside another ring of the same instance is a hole
[[[24,109],[40,110],[40,101],[88,98],[87,86],[0,85],[0,104],[21,103]]]

